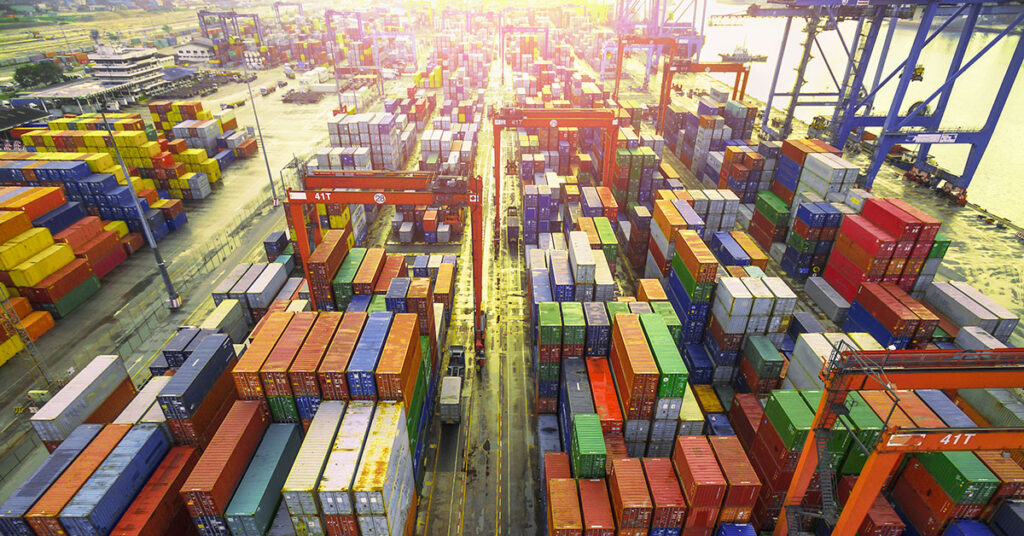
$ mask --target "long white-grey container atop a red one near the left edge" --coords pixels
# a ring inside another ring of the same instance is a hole
[[[63,441],[128,379],[120,356],[96,356],[30,422],[42,441]]]

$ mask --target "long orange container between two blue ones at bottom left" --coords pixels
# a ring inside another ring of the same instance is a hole
[[[25,521],[38,536],[65,536],[63,527],[57,521],[60,510],[71,502],[82,485],[89,480],[96,467],[106,459],[129,429],[131,429],[130,424],[103,426],[60,478],[32,505],[25,514]]]

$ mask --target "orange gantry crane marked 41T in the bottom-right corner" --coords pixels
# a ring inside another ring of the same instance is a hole
[[[834,476],[828,442],[847,396],[853,390],[957,389],[1024,385],[1024,348],[984,352],[906,349],[863,352],[840,346],[822,365],[825,389],[786,491],[775,536],[800,530],[801,504],[815,472],[819,473],[822,509],[816,517],[831,523],[834,536],[853,536],[882,486],[904,454],[913,452],[1017,450],[1024,427],[900,428],[889,426],[869,451],[850,498],[836,517]],[[845,425],[845,422],[844,422]],[[851,448],[858,448],[859,440]]]

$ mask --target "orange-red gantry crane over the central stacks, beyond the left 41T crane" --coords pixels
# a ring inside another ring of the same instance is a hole
[[[495,114],[495,228],[501,220],[502,195],[502,130],[506,128],[600,128],[604,142],[601,159],[601,181],[610,185],[615,174],[615,143],[618,141],[618,119],[608,108],[503,108]]]

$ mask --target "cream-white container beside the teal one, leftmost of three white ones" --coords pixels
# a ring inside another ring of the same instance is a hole
[[[321,514],[316,500],[316,489],[344,413],[345,403],[343,401],[326,401],[316,409],[316,415],[313,416],[309,430],[306,431],[306,437],[302,440],[299,454],[296,456],[296,459],[301,460],[301,463],[295,463],[292,466],[292,470],[288,473],[288,480],[285,481],[285,486],[282,488],[285,495],[285,505],[290,514]]]

